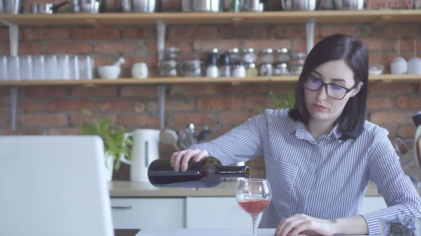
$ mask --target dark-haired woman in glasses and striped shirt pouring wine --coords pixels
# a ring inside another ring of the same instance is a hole
[[[417,191],[387,130],[366,120],[368,50],[351,36],[321,40],[307,56],[292,109],[267,109],[213,141],[174,153],[171,165],[208,155],[224,165],[264,155],[272,202],[259,228],[275,235],[377,235],[379,218],[421,217]],[[373,180],[389,207],[359,214]]]

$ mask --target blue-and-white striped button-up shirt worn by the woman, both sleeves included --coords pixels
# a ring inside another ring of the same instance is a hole
[[[288,109],[267,109],[217,139],[189,148],[206,149],[223,165],[265,156],[272,201],[259,228],[276,228],[294,214],[323,219],[359,215],[373,180],[388,207],[361,216],[369,234],[377,235],[382,216],[421,217],[420,197],[387,135],[366,121],[356,139],[340,140],[336,125],[315,140],[303,123],[288,116]]]

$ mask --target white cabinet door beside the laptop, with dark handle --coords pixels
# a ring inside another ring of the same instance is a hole
[[[185,198],[112,198],[114,228],[185,228]]]

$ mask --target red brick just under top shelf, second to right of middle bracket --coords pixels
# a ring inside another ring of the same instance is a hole
[[[222,39],[266,39],[268,27],[220,27]]]

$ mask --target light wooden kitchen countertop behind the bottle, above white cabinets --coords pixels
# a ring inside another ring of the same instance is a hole
[[[111,181],[110,197],[234,197],[237,182],[223,181],[220,186],[210,189],[156,188],[149,182]],[[379,196],[377,186],[368,184],[366,196]]]

